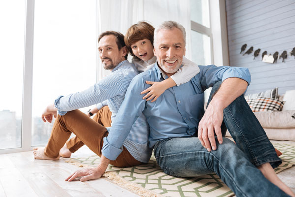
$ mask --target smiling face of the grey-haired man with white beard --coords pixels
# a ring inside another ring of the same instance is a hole
[[[171,76],[180,68],[185,55],[185,43],[178,28],[162,29],[157,33],[154,55],[160,68]]]

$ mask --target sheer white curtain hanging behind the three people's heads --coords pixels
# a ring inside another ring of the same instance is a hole
[[[191,57],[189,0],[97,0],[96,2],[97,38],[104,31],[119,31],[125,35],[127,29],[138,21],[147,21],[155,28],[164,21],[177,21],[186,30],[186,57]],[[103,69],[98,51],[96,65],[98,80],[110,73]]]

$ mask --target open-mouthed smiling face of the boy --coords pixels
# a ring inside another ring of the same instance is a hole
[[[143,61],[148,61],[154,57],[153,45],[148,39],[137,41],[131,45],[131,49],[133,54]]]

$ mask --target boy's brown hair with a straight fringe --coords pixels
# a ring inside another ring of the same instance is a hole
[[[128,28],[124,41],[131,56],[133,56],[136,59],[139,59],[137,56],[133,54],[131,48],[131,45],[133,45],[137,41],[148,39],[150,40],[151,44],[153,44],[154,30],[155,28],[145,21],[140,21]]]

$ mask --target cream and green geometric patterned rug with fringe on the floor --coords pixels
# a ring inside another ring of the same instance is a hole
[[[295,144],[273,143],[283,154],[283,163],[276,173],[295,165]],[[96,155],[85,158],[72,158],[66,162],[79,167],[95,167],[100,158]],[[165,174],[154,157],[148,164],[130,168],[108,166],[105,177],[118,185],[143,197],[231,197],[235,194],[216,174],[194,178],[177,178]]]

